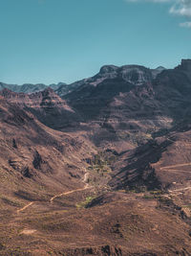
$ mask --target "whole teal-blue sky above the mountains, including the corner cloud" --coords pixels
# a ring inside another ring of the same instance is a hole
[[[191,0],[0,0],[0,81],[71,83],[105,64],[191,58]]]

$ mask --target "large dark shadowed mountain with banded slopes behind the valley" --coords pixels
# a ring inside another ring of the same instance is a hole
[[[172,70],[159,68],[157,77],[141,66],[106,66],[94,81],[85,81],[62,98],[82,117],[80,128],[94,130],[90,136],[97,146],[137,147],[152,132],[171,128],[182,115],[188,117],[190,79],[183,66],[189,61],[182,60]]]

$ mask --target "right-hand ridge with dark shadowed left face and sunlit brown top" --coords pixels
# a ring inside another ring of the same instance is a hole
[[[174,197],[188,198],[191,186],[191,123],[153,136],[133,151],[118,155],[110,185],[115,189],[169,191]]]

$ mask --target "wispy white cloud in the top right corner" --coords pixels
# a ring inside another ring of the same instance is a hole
[[[171,14],[191,18],[191,0],[125,0],[126,2],[171,3]],[[180,27],[191,28],[191,21],[180,23]]]

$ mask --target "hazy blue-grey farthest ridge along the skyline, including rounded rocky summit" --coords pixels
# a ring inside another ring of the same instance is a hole
[[[64,96],[70,92],[72,92],[75,88],[79,87],[81,84],[90,83],[90,84],[98,84],[100,81],[109,78],[115,78],[116,76],[126,76],[126,80],[135,81],[135,84],[141,84],[143,81],[152,80],[155,78],[162,70],[165,68],[158,67],[157,69],[146,69],[137,65],[127,65],[123,67],[117,67],[114,65],[103,66],[100,69],[100,72],[93,78],[85,79],[82,81],[75,81],[74,83],[67,84],[65,82],[58,82],[57,84],[53,83],[50,85],[46,85],[44,83],[24,83],[22,85],[17,84],[8,84],[5,82],[0,82],[0,90],[4,88],[8,88],[14,92],[23,92],[23,93],[33,93],[38,91],[43,91],[46,88],[50,87],[59,96]],[[147,72],[146,72],[147,71]],[[138,79],[137,79],[138,76]]]

